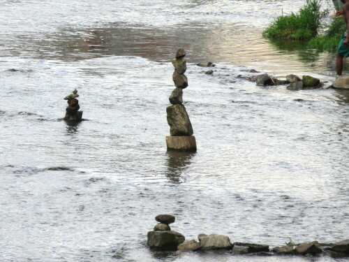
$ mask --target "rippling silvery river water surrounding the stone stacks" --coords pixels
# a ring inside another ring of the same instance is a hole
[[[345,261],[146,245],[157,214],[187,240],[348,238],[349,94],[246,80],[334,80],[334,54],[261,37],[303,4],[0,0],[0,261]],[[177,48],[195,154],[166,151]],[[59,118],[75,88],[86,121],[71,125]]]

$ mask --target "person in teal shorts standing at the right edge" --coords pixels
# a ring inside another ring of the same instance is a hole
[[[336,58],[336,71],[337,75],[342,75],[343,72],[343,58],[349,57],[349,35],[348,35],[348,21],[349,21],[349,0],[341,0],[343,3],[342,10],[338,11],[336,15],[343,15],[344,22],[346,22],[346,32],[343,34],[339,47],[337,50]]]

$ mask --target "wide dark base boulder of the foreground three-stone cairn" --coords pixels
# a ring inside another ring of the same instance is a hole
[[[151,249],[174,251],[184,240],[184,235],[176,231],[150,231],[147,245]]]

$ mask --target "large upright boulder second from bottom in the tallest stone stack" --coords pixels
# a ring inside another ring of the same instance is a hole
[[[193,136],[193,126],[184,105],[171,105],[166,108],[171,136]]]

